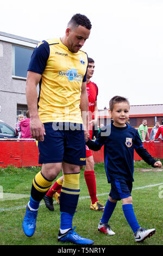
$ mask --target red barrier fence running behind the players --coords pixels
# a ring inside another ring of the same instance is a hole
[[[163,143],[143,143],[143,147],[157,159],[163,159]],[[95,163],[104,162],[103,147],[99,151],[92,151]],[[36,141],[33,139],[6,139],[0,140],[0,167],[6,168],[9,165],[15,167],[40,166],[39,150]],[[134,152],[134,160],[141,160],[141,157]]]

